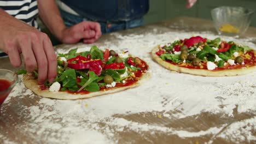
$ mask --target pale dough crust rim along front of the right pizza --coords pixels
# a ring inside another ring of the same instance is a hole
[[[156,46],[152,50],[153,59],[156,62],[158,62],[160,65],[162,65],[163,67],[170,69],[170,70],[178,71],[180,73],[187,73],[187,74],[201,75],[201,76],[236,76],[236,75],[245,75],[245,74],[253,73],[254,71],[256,71],[256,65],[254,65],[253,67],[249,67],[249,68],[227,69],[227,70],[218,70],[218,71],[206,70],[206,69],[189,69],[189,68],[179,67],[177,65],[174,65],[174,64],[171,64],[171,63],[168,63],[168,62],[165,62],[164,60],[162,60],[155,53],[158,50],[159,50],[158,46]]]

